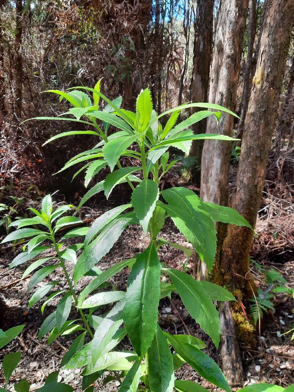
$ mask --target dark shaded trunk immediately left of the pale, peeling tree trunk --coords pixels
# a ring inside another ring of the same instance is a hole
[[[213,27],[213,1],[198,0],[196,17],[194,22],[194,57],[193,76],[191,86],[192,102],[207,102],[209,85],[209,68],[211,62],[212,27]],[[191,114],[197,111],[192,108]],[[207,121],[202,120],[192,125],[194,134],[205,133]],[[192,143],[190,156],[195,157],[195,171],[193,180],[200,186],[201,179],[201,155],[203,142],[201,140]]]

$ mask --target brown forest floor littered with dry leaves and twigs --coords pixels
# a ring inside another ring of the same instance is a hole
[[[171,182],[171,181],[170,181]],[[174,186],[177,184],[171,183]],[[182,185],[182,184],[181,184]],[[164,184],[163,184],[164,186]],[[117,205],[116,202],[124,202],[127,198],[124,192],[116,192],[116,200],[114,198],[113,204],[105,202],[103,197],[94,200],[95,208],[83,207],[80,211],[80,218],[84,221],[91,221],[100,216],[103,212]],[[262,232],[265,232],[265,225],[260,223],[257,225],[256,231],[260,227],[260,236],[254,240],[253,249],[260,247],[260,238]],[[272,230],[272,229],[271,229]],[[273,231],[273,230],[272,230]],[[162,238],[171,242],[179,243],[186,247],[190,247],[185,241],[185,238],[174,227],[171,220],[160,233]],[[74,239],[71,243],[74,243]],[[114,263],[120,260],[131,258],[132,255],[142,252],[148,245],[148,236],[144,234],[140,227],[131,226],[125,230],[117,241],[116,245],[111,251],[102,259],[99,264],[100,269],[105,270]],[[78,241],[75,241],[78,242]],[[38,340],[38,330],[44,321],[45,317],[52,312],[57,305],[58,299],[47,305],[44,315],[41,313],[41,305],[37,303],[29,311],[27,305],[31,294],[27,293],[27,285],[29,283],[29,276],[24,280],[21,279],[23,268],[9,270],[9,263],[13,257],[21,252],[22,245],[16,245],[15,249],[8,245],[3,247],[0,254],[0,265],[2,267],[0,272],[0,297],[5,303],[4,323],[0,325],[4,330],[15,325],[25,324],[25,328],[20,336],[7,345],[1,352],[3,357],[8,352],[15,352],[20,350],[22,352],[22,359],[13,373],[11,380],[13,383],[21,378],[27,378],[31,384],[31,391],[38,389],[44,382],[48,373],[55,370],[60,370],[60,361],[71,345],[71,342],[77,335],[61,336],[56,339],[50,346],[47,346],[46,339]],[[257,253],[256,253],[257,254]],[[272,253],[273,254],[273,253]],[[261,257],[259,262],[263,267],[269,270],[271,267],[276,269],[287,280],[288,287],[294,286],[294,257],[289,257],[292,253],[287,252],[281,256],[274,257],[272,260],[270,254],[267,257]],[[185,263],[185,256],[180,250],[165,246],[161,250],[161,259],[165,261],[169,267],[176,269],[187,269],[192,274],[196,273],[196,256],[193,253],[188,263]],[[67,267],[73,268],[73,265],[68,262]],[[110,281],[112,290],[124,290],[126,286],[128,270],[122,270],[118,275],[114,276]],[[260,285],[262,277],[258,277],[258,272],[255,271],[256,284]],[[89,281],[91,277],[84,277],[78,283],[77,291],[80,291]],[[65,285],[62,271],[57,269],[54,274],[49,276],[48,281],[61,280],[60,285]],[[58,297],[57,297],[58,298]],[[256,383],[265,381],[267,383],[278,384],[283,387],[294,383],[294,340],[291,340],[292,334],[285,334],[292,328],[293,318],[293,300],[285,294],[276,294],[273,299],[275,310],[271,311],[261,321],[261,335],[256,332],[256,345],[249,345],[248,343],[241,343],[240,350],[242,361],[244,365],[246,382]],[[107,310],[102,307],[97,315],[103,315]],[[76,317],[74,312],[71,314],[73,318]],[[207,348],[204,350],[209,354],[219,365],[221,365],[221,357],[219,352],[214,347],[211,339],[201,330],[198,324],[189,316],[185,310],[180,297],[173,293],[171,299],[163,298],[160,301],[160,320],[159,323],[162,328],[178,334],[192,334],[193,336],[205,341]],[[120,343],[120,348],[130,350],[131,345],[127,338],[124,338]],[[2,359],[2,358],[0,358]],[[80,373],[82,369],[76,370],[60,370],[59,380],[71,384],[77,392],[81,391]],[[107,376],[107,372],[103,374],[98,384],[100,390],[114,391],[117,390],[118,381],[112,381],[103,385],[103,379]],[[217,390],[213,385],[201,379],[201,377],[185,363],[179,370],[176,371],[176,377],[183,380],[193,380],[201,383],[204,387]],[[4,374],[0,371],[0,385],[4,381]],[[13,383],[9,383],[9,390],[13,389]]]

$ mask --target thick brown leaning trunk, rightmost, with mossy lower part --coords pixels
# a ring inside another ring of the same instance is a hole
[[[232,202],[232,207],[252,227],[256,224],[260,207],[293,21],[294,0],[268,0]],[[249,271],[252,238],[252,230],[229,226],[222,246],[223,270],[238,272],[242,265],[243,270]],[[230,276],[227,283],[230,287],[242,289],[237,276]]]

